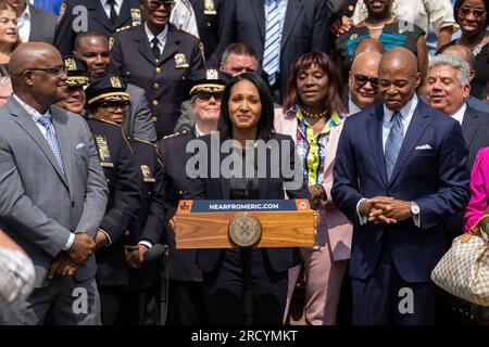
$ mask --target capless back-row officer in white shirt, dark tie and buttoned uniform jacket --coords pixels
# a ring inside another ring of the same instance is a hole
[[[141,0],[145,24],[114,35],[111,69],[146,91],[156,137],[173,132],[188,75],[203,65],[199,39],[168,23],[173,1]]]

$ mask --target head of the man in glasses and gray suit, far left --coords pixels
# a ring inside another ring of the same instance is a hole
[[[66,72],[60,52],[51,44],[23,43],[13,51],[9,74],[14,92],[40,112],[66,97]]]

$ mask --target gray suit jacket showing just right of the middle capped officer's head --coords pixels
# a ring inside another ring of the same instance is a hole
[[[151,110],[146,100],[145,89],[127,83],[126,91],[130,95],[130,111],[124,123],[124,134],[127,138],[155,142],[156,129],[151,119]]]

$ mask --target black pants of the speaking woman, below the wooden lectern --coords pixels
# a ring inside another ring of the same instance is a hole
[[[287,300],[288,271],[274,271],[264,249],[252,250],[253,322],[281,325]],[[203,273],[209,324],[242,325],[242,268],[239,249],[227,249],[213,272]]]

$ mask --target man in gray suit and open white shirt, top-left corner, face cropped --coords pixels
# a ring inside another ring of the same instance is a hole
[[[7,0],[17,13],[18,35],[22,42],[54,42],[57,16],[32,5],[26,0]]]

